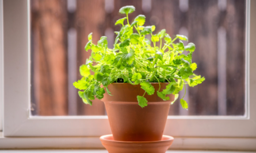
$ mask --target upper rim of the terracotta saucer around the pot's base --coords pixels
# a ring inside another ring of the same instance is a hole
[[[109,137],[109,136],[112,136],[113,135],[102,135],[100,137],[100,140],[103,140],[103,141],[106,141],[106,142],[113,142],[113,143],[140,143],[140,144],[143,144],[143,143],[156,143],[156,142],[170,142],[170,141],[173,141],[174,138],[172,136],[169,136],[169,135],[163,135],[163,137],[165,138],[169,138],[169,139],[166,139],[166,140],[159,140],[159,141],[149,141],[149,142],[125,142],[125,141],[117,141],[117,140],[109,140],[109,139],[105,139],[106,137]]]

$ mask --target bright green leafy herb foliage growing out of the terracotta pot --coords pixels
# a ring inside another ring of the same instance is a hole
[[[183,88],[186,93],[184,84],[194,87],[205,80],[204,77],[193,73],[197,68],[197,64],[192,62],[192,53],[196,47],[192,42],[184,46],[182,41],[188,41],[186,36],[177,34],[172,39],[165,29],[153,34],[154,25],[143,26],[146,19],[144,15],[138,15],[129,24],[128,14],[133,11],[133,6],[125,6],[119,10],[121,14],[126,14],[126,17],[116,21],[116,25],[122,27],[120,32],[115,32],[117,36],[113,49],[108,48],[105,36],[102,36],[95,45],[92,42],[92,33],[89,34],[85,50],[91,49],[91,56],[85,65],[80,66],[82,79],[73,84],[81,90],[78,94],[84,103],[91,105],[91,100],[95,97],[102,99],[105,89],[111,95],[108,89],[111,83],[140,84],[145,91],[144,95],[154,94],[155,89],[150,83],[169,83],[163,91],[159,88],[156,91],[157,95],[163,100],[170,100],[167,95],[174,94],[176,100],[178,92]],[[124,21],[127,21],[126,25]],[[151,40],[145,37],[148,34],[151,35]],[[179,42],[174,43],[175,40]],[[159,46],[156,46],[156,42]],[[184,52],[188,54],[185,55]],[[90,70],[94,75],[90,74]],[[137,96],[140,107],[147,106],[144,95]],[[188,104],[183,98],[180,101],[181,105],[188,109]]]

